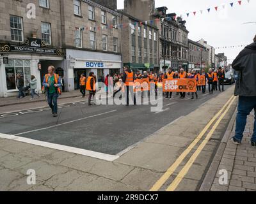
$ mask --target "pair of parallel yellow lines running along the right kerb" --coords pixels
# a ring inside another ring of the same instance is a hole
[[[203,142],[200,144],[200,146],[196,149],[195,153],[190,157],[188,163],[182,168],[182,170],[179,172],[177,177],[173,180],[172,184],[166,189],[166,191],[175,191],[177,186],[179,186],[180,182],[188,173],[189,168],[192,166],[194,163],[196,157],[200,154],[202,149],[204,149],[206,143],[209,141],[211,138],[212,134],[214,133],[215,129],[218,127],[220,124],[221,120],[223,117],[227,114],[228,110],[230,109],[230,106],[234,102],[236,97],[232,96],[230,99],[228,99],[227,103],[221,108],[221,110],[210,120],[210,122],[205,126],[205,128],[202,130],[202,132],[195,138],[195,140],[189,145],[189,147],[180,154],[178,159],[168,168],[168,170],[164,173],[164,175],[157,180],[156,184],[150,189],[150,191],[159,191],[159,189],[163,186],[163,184],[170,178],[170,176],[174,173],[174,171],[178,168],[180,163],[185,159],[186,156],[188,156],[189,152],[195,147],[195,145],[202,139],[202,137],[205,135],[207,130],[211,127],[211,125],[214,123],[214,121],[220,116],[220,118],[216,121],[214,126],[212,127],[211,131],[207,134]],[[225,108],[227,109],[225,110]],[[223,112],[225,110],[225,112]],[[222,113],[223,112],[223,113]],[[222,113],[222,114],[221,114]]]

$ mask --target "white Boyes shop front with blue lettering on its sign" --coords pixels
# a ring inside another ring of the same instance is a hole
[[[121,55],[90,52],[83,50],[67,50],[67,82],[68,91],[79,89],[79,78],[86,77],[92,71],[97,82],[104,82],[107,75],[115,75],[122,70]]]

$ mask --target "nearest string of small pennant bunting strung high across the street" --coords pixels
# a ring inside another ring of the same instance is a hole
[[[242,4],[243,4],[243,2],[244,1],[247,1],[248,3],[250,3],[250,0],[243,0],[243,1],[237,1],[236,3],[237,3],[237,5],[239,5],[239,6],[241,6]],[[233,2],[233,3],[229,3],[229,5],[231,6],[231,8],[234,8],[234,5],[235,5],[235,3]],[[222,6],[222,8],[223,9],[225,9],[226,8],[226,6],[227,6],[227,4],[223,4],[223,5],[221,5]],[[220,10],[220,7],[221,6],[214,6],[214,10],[215,11],[218,11],[218,10]],[[207,8],[207,10],[205,10],[205,11],[207,11],[208,13],[210,13],[210,11],[212,10],[212,8]],[[199,11],[201,14],[203,14],[204,13],[204,10],[200,10]],[[193,11],[192,12],[193,13],[193,15],[195,16],[196,15],[196,13],[198,13],[198,11]],[[190,15],[190,13],[186,13],[186,16],[187,17],[189,17],[189,15]],[[184,15],[179,15],[180,17],[183,17]],[[125,27],[132,27],[132,25],[134,25],[134,27],[136,27],[136,25],[142,25],[142,24],[145,24],[145,25],[153,25],[154,24],[154,22],[159,22],[160,20],[161,21],[164,21],[164,19],[166,19],[166,20],[176,20],[177,19],[177,15],[176,16],[174,16],[174,17],[165,17],[165,18],[156,18],[156,19],[154,19],[154,20],[146,20],[146,21],[142,21],[142,22],[134,22],[134,23],[129,23],[129,24],[116,24],[116,25],[101,25],[101,26],[97,26],[97,27],[88,27],[88,26],[86,26],[86,27],[76,27],[76,30],[79,30],[79,29],[82,29],[83,31],[84,30],[86,30],[86,31],[100,31],[100,29],[102,29],[102,30],[104,30],[104,29],[113,29],[113,28],[120,28],[120,29],[122,29],[122,28],[125,28]]]

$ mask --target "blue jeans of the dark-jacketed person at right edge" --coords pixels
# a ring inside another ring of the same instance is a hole
[[[256,96],[246,97],[239,96],[237,117],[236,117],[236,135],[235,138],[239,141],[243,139],[243,133],[246,126],[247,115],[250,115],[254,108],[255,120],[252,142],[256,142]]]

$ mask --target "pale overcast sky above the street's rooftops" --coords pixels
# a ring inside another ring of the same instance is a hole
[[[117,0],[118,8],[124,8],[124,0]],[[234,2],[233,8],[230,3]],[[225,4],[225,9],[222,5]],[[243,0],[239,6],[237,0],[156,0],[156,7],[166,6],[168,13],[182,15],[187,21],[191,40],[204,38],[212,47],[248,45],[256,34],[256,24],[243,24],[256,21],[256,0]],[[214,9],[218,6],[218,11]],[[211,8],[208,13],[207,8]],[[200,13],[203,10],[203,14]],[[193,11],[196,11],[194,16]],[[186,13],[189,13],[187,17]],[[241,51],[241,47],[216,50],[225,52],[228,63]]]

